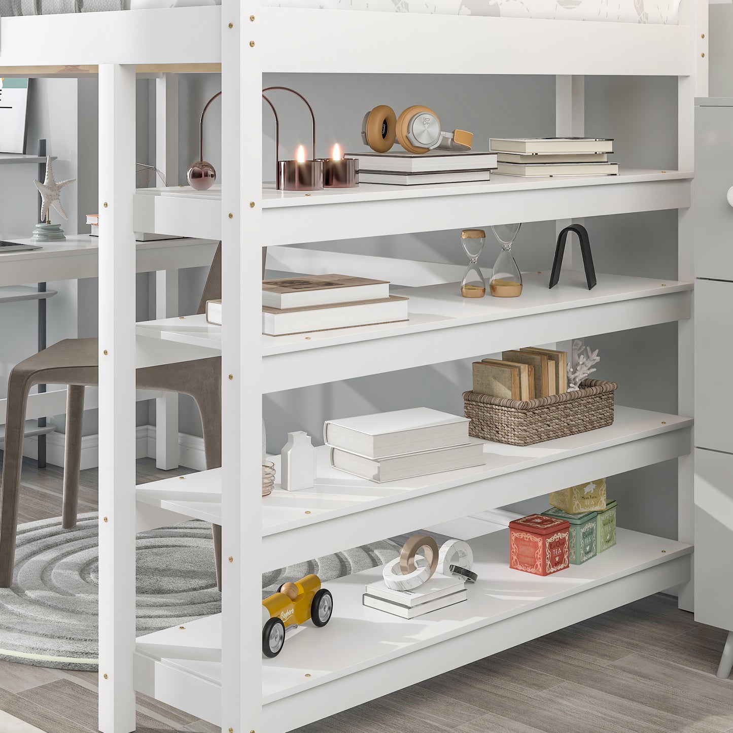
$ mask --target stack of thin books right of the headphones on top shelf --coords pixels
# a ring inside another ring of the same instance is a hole
[[[619,164],[608,162],[614,152],[610,138],[492,138],[497,173],[507,176],[609,176]]]

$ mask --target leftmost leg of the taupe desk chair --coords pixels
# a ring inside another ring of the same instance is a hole
[[[18,493],[23,465],[23,432],[26,403],[31,383],[26,375],[10,372],[7,386],[5,449],[0,493],[0,587],[10,588],[15,564],[15,535],[18,530]]]

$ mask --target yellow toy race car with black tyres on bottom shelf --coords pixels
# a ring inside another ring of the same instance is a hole
[[[334,599],[320,586],[317,575],[306,575],[295,583],[283,583],[277,593],[262,601],[262,654],[279,655],[286,630],[298,628],[311,619],[314,626],[331,620]]]

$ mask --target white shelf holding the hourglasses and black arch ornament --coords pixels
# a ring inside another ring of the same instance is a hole
[[[599,274],[588,290],[583,273],[563,270],[550,290],[549,278],[549,272],[524,274],[519,298],[461,298],[457,283],[393,289],[410,298],[408,322],[262,336],[262,392],[690,317],[689,282]],[[205,316],[141,322],[137,334],[188,345],[189,358],[221,351],[221,326]]]

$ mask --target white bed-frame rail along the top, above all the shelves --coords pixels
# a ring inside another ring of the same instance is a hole
[[[257,15],[265,72],[679,76],[692,66],[687,26],[290,7]],[[222,22],[221,7],[2,18],[0,72],[74,76],[103,63],[135,64],[139,73],[221,71]],[[57,43],[37,48],[51,34]],[[319,36],[330,39],[328,54],[282,43]],[[438,36],[426,54],[424,39]],[[375,37],[390,54],[372,53]]]

